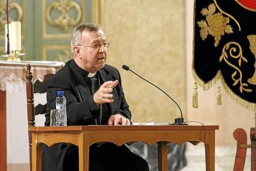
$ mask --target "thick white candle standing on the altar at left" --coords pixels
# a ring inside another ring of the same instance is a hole
[[[21,51],[21,23],[11,22],[9,24],[10,50]]]

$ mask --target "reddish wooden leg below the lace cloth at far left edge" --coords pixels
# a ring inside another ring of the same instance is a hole
[[[7,170],[6,91],[0,90],[0,170]]]

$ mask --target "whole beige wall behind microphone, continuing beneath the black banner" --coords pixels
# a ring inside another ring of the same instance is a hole
[[[186,120],[219,125],[216,145],[236,145],[233,131],[238,127],[248,132],[249,140],[254,113],[237,105],[223,89],[222,105],[217,106],[216,86],[207,92],[199,87],[199,108],[192,108],[192,0],[107,0],[104,17],[104,30],[111,42],[107,63],[120,70],[133,122],[173,122],[180,114],[167,96],[123,70],[122,64],[172,96]]]

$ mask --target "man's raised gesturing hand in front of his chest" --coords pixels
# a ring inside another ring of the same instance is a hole
[[[107,81],[99,87],[99,90],[93,95],[93,100],[97,105],[112,103],[113,99],[113,88],[116,87],[118,81]]]

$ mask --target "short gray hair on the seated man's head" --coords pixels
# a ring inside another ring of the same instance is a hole
[[[101,26],[95,23],[82,23],[74,28],[72,31],[72,37],[71,37],[71,53],[73,54],[73,46],[74,45],[79,45],[81,43],[81,36],[82,36],[82,31],[98,31],[101,30]]]

